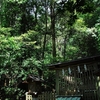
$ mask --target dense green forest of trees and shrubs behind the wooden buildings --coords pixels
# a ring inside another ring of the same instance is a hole
[[[99,55],[99,33],[100,0],[0,0],[0,91],[20,96],[29,74],[52,84],[48,65]]]

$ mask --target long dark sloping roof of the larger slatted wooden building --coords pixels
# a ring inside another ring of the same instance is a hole
[[[49,65],[49,69],[55,70],[55,69],[65,68],[65,67],[68,67],[68,66],[76,66],[76,65],[94,63],[94,62],[99,62],[99,61],[100,61],[100,55],[82,58],[82,59],[77,59],[77,60],[73,60],[73,61],[51,64],[51,65]]]

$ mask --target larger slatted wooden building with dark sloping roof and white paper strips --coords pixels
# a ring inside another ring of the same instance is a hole
[[[53,64],[49,68],[56,70],[57,96],[100,100],[100,55]]]

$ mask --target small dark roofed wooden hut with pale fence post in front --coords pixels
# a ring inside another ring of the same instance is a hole
[[[29,75],[26,80],[22,81],[18,86],[26,92],[22,100],[33,100],[33,98],[38,98],[38,95],[42,92],[42,82],[43,79],[34,75]]]

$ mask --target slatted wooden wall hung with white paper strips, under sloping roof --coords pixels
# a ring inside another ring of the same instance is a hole
[[[84,64],[59,70],[59,95],[83,95],[85,100],[99,100],[94,75],[97,69],[96,64]]]

